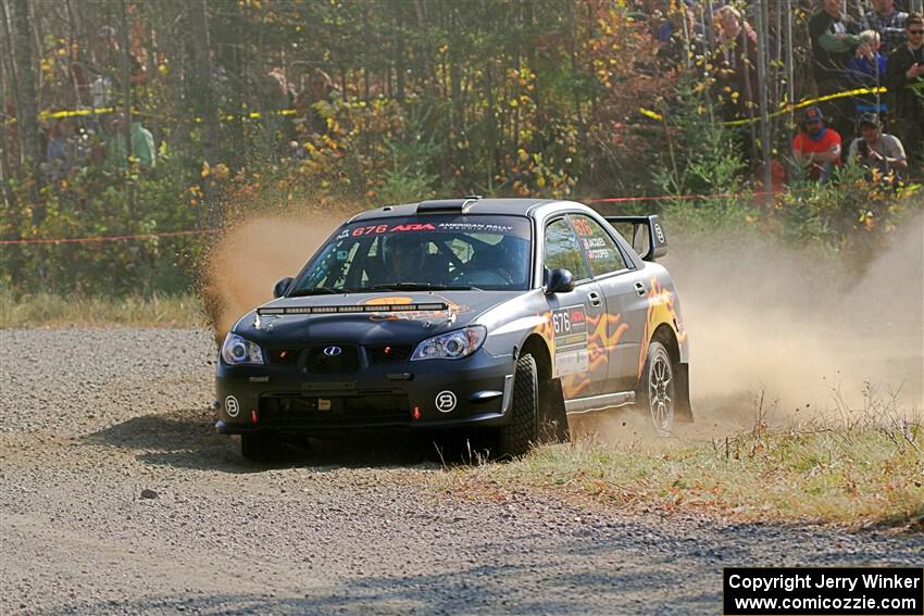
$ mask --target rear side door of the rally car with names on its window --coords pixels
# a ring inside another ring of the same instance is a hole
[[[648,318],[648,286],[599,221],[584,214],[569,217],[605,300],[607,314],[594,335],[602,339],[609,356],[607,391],[627,391],[635,386],[638,374]]]

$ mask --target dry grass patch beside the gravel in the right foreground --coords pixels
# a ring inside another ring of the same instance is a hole
[[[541,447],[509,464],[448,468],[435,480],[463,498],[503,500],[524,487],[629,511],[708,512],[739,519],[924,530],[924,423],[895,398],[835,418],[711,441],[664,439],[615,449],[594,439]]]

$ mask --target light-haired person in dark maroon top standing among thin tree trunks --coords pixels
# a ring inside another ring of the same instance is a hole
[[[722,7],[715,12],[717,26],[716,81],[725,101],[725,120],[745,117],[757,100],[758,93],[758,36],[734,7]]]

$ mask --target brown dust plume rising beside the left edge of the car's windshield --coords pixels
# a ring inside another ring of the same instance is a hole
[[[244,218],[222,234],[203,272],[202,293],[216,339],[253,307],[273,299],[273,285],[295,276],[340,223],[349,205],[304,205]]]

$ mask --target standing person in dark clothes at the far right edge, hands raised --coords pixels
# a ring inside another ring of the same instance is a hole
[[[920,13],[908,16],[904,32],[908,42],[886,63],[889,126],[917,172],[924,166],[924,18]]]

